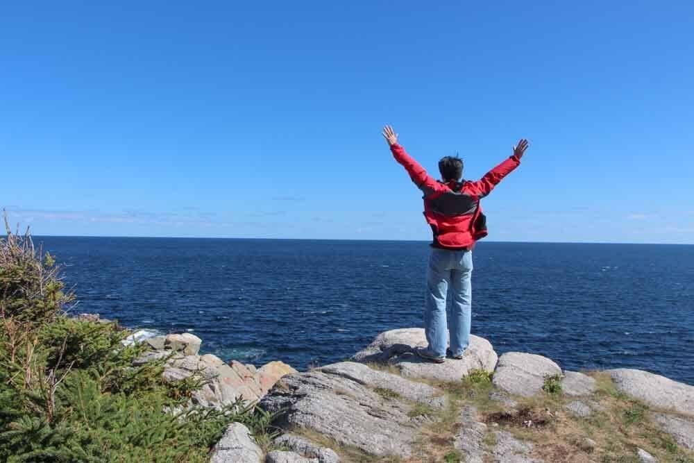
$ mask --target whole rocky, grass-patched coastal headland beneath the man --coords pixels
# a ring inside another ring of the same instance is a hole
[[[175,348],[199,346],[187,339]],[[166,338],[145,342],[160,347],[146,358],[167,352]],[[266,367],[178,354],[164,376],[178,380],[197,362],[211,382],[192,401],[248,398],[273,416],[280,434],[262,445],[230,424],[212,453],[218,463],[694,461],[690,385],[633,369],[564,371],[532,353],[499,357],[476,336],[462,360],[433,364],[414,355],[425,345],[419,328],[391,330],[348,361],[301,373],[282,364],[264,382],[254,371]]]

